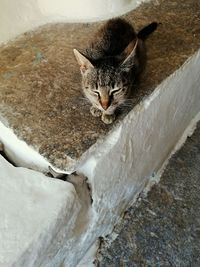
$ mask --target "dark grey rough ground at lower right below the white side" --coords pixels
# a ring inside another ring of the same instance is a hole
[[[160,183],[141,196],[102,243],[100,267],[200,266],[200,123]]]

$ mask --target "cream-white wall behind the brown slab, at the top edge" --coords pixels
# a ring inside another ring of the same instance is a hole
[[[0,0],[0,43],[49,22],[98,21],[147,0]]]

